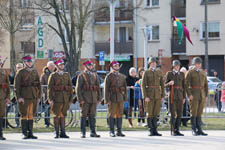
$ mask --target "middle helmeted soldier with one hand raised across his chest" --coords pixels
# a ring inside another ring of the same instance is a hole
[[[171,113],[171,131],[173,136],[184,136],[179,127],[185,102],[185,76],[180,72],[180,61],[173,61],[173,70],[167,72],[165,85],[169,88],[169,108]]]

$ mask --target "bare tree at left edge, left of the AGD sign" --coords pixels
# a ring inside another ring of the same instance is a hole
[[[1,0],[0,1],[0,25],[9,32],[10,35],[10,69],[15,73],[15,33],[19,30],[22,17],[26,13],[21,9],[18,1]]]

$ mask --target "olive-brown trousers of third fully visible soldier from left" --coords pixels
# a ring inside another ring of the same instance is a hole
[[[97,103],[86,103],[84,102],[81,106],[81,117],[91,117],[96,116]]]

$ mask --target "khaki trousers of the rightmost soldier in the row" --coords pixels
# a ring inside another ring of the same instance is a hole
[[[201,117],[205,106],[205,99],[193,97],[189,101],[191,117]]]

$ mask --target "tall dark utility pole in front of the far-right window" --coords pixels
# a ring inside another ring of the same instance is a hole
[[[209,72],[208,66],[208,0],[205,0],[205,69]]]

